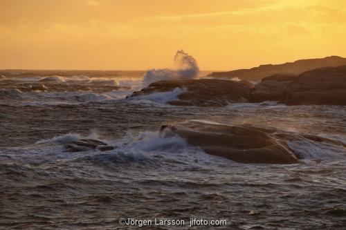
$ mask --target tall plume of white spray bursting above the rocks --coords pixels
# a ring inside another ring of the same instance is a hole
[[[174,69],[152,69],[147,70],[143,78],[143,85],[149,86],[153,82],[172,79],[194,79],[199,74],[199,67],[196,59],[184,52],[176,51],[174,56]]]

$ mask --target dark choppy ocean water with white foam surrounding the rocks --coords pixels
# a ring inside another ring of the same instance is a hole
[[[145,72],[54,74],[0,80],[0,229],[137,229],[119,218],[227,220],[143,229],[345,229],[345,144],[293,141],[299,164],[239,164],[158,133],[199,120],[346,143],[345,106],[179,107],[165,104],[179,88],[126,99]],[[116,148],[65,151],[82,138]]]

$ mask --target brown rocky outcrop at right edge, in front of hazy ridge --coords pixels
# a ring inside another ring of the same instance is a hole
[[[318,68],[301,75],[273,75],[251,93],[252,102],[279,101],[289,105],[346,105],[346,66]]]

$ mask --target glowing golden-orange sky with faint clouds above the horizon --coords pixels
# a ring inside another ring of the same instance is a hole
[[[346,57],[345,0],[0,0],[0,68],[201,69]]]

